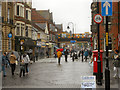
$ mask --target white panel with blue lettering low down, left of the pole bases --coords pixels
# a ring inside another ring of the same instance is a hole
[[[81,88],[96,88],[95,76],[82,76]]]

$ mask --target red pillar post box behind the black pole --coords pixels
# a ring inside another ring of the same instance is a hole
[[[103,50],[100,50],[100,61],[101,61],[101,78],[103,78],[103,60],[102,60]],[[98,73],[98,50],[93,51],[93,75]]]

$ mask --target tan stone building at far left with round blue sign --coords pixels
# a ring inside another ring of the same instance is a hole
[[[2,51],[15,50],[15,25],[14,25],[14,3],[1,2],[0,12],[2,18]]]

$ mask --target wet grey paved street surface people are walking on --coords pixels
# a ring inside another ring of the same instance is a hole
[[[68,56],[69,57],[69,56]],[[81,88],[82,76],[93,76],[93,68],[87,62],[75,59],[73,62],[69,57],[65,62],[64,56],[61,58],[61,65],[58,65],[57,58],[44,58],[29,65],[29,74],[19,77],[19,66],[15,70],[15,75],[11,75],[10,68],[7,68],[7,77],[3,77],[3,88]],[[110,64],[111,65],[111,64]],[[111,66],[111,88],[119,88],[119,79],[113,78],[113,66]],[[103,73],[104,74],[104,73]],[[103,85],[96,86],[104,88]]]

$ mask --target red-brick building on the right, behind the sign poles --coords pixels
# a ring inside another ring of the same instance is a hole
[[[97,13],[98,7],[97,2],[91,4],[92,9],[92,40],[93,40],[93,49],[97,49],[97,24],[93,21],[94,15]],[[119,13],[120,12],[120,2],[113,2],[113,15],[108,17],[108,29],[109,29],[109,51],[114,51],[119,48],[118,44],[118,35],[119,35]],[[101,14],[101,2],[99,2],[99,13]],[[105,25],[106,17],[103,17],[103,22],[100,24],[100,49],[106,50],[105,46]]]

